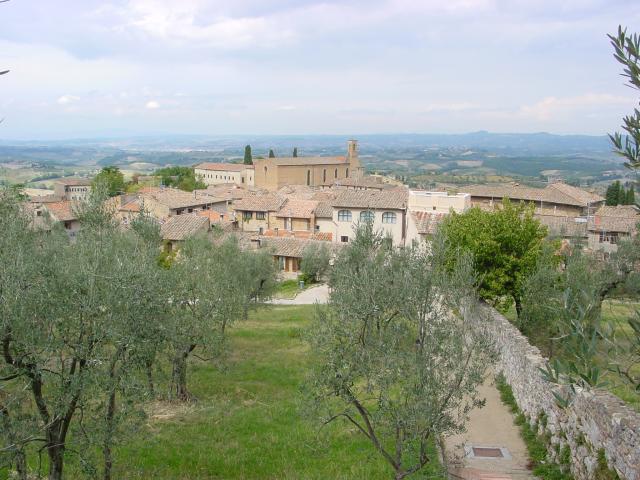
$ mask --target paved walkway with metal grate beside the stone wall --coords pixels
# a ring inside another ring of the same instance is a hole
[[[500,394],[489,377],[479,388],[486,398],[483,408],[473,410],[467,432],[445,440],[449,472],[453,479],[524,480],[534,479],[527,469],[527,447],[514,415],[500,400]],[[474,448],[475,447],[475,448]],[[492,455],[492,456],[490,456]]]

